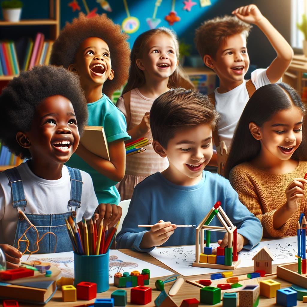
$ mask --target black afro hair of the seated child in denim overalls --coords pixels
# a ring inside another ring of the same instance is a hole
[[[87,102],[79,77],[63,67],[43,65],[21,72],[0,95],[0,140],[22,159],[31,158],[31,154],[18,144],[16,134],[31,129],[36,107],[53,95],[71,101],[81,135],[87,121]]]

